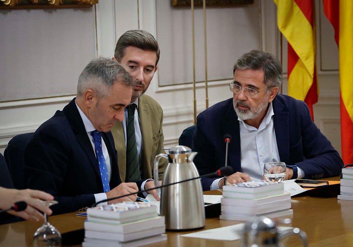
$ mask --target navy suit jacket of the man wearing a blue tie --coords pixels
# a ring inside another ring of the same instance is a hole
[[[112,133],[102,133],[112,174],[110,188],[121,183]],[[28,187],[52,194],[54,214],[73,212],[95,203],[103,192],[98,162],[75,98],[44,122],[25,148]]]

